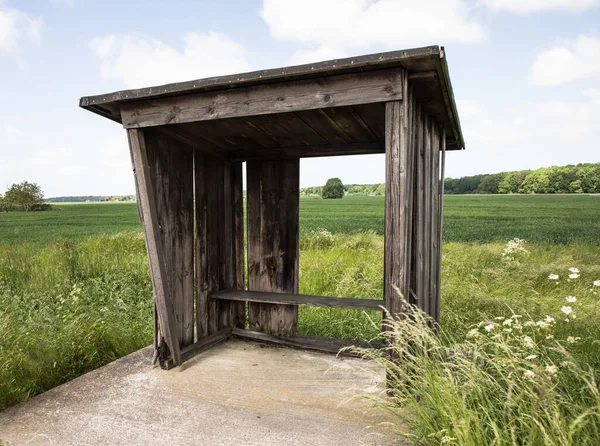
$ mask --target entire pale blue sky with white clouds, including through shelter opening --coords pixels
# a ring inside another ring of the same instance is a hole
[[[0,0],[0,191],[134,192],[124,88],[446,47],[467,150],[447,175],[600,162],[600,0]],[[304,160],[303,187],[384,180],[381,155]]]

